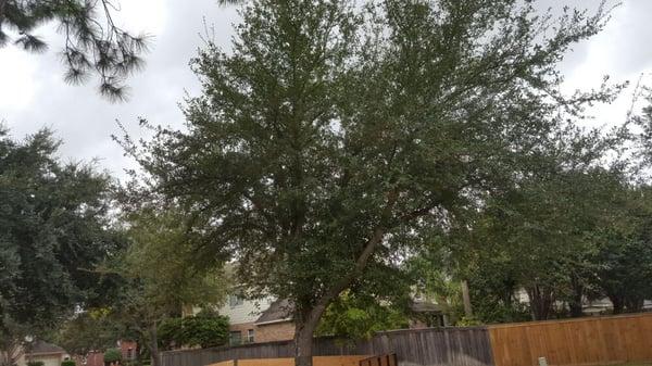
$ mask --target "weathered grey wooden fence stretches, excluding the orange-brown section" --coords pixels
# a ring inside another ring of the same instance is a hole
[[[172,351],[162,354],[162,366],[204,366],[228,359],[293,356],[291,341],[253,343],[231,348]],[[396,353],[399,366],[492,365],[486,328],[409,329],[381,332],[369,340],[343,343],[334,338],[315,339],[315,356],[380,355]]]

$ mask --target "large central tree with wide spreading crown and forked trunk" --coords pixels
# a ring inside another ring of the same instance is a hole
[[[561,118],[610,97],[555,91],[556,63],[604,15],[254,1],[233,53],[210,45],[193,62],[204,92],[187,129],[123,143],[193,217],[197,252],[230,254],[253,294],[294,303],[296,363],[310,365],[319,318],[367,268],[396,267],[511,180]]]

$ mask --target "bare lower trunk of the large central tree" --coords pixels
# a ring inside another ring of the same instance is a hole
[[[309,311],[298,311],[294,315],[294,366],[312,366],[313,337],[330,300],[321,303]]]

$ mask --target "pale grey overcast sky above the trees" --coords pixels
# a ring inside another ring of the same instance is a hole
[[[559,7],[563,0],[548,0]],[[574,0],[575,7],[594,7],[598,0]],[[236,10],[218,7],[215,0],[122,0],[120,22],[129,30],[154,36],[147,67],[129,79],[130,98],[112,104],[99,97],[97,85],[70,86],[57,56],[60,38],[52,27],[39,29],[50,42],[50,51],[29,54],[12,46],[0,49],[0,122],[16,138],[46,126],[63,140],[64,160],[98,159],[116,176],[134,167],[121,148],[111,140],[120,119],[136,136],[139,116],[164,125],[180,125],[178,103],[185,92],[197,94],[197,77],[189,60],[202,46],[203,20],[215,29],[215,39],[228,47]],[[652,0],[624,0],[613,12],[604,31],[575,47],[562,65],[564,89],[595,87],[609,74],[612,80],[636,84],[641,74],[652,84]],[[611,105],[593,111],[595,124],[620,123],[631,101],[631,89]]]

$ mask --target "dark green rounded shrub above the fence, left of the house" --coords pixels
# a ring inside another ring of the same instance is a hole
[[[228,342],[228,318],[211,311],[195,316],[165,319],[159,328],[159,344],[164,349],[224,345]]]

